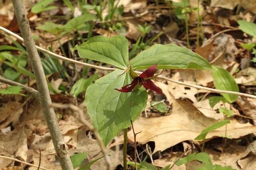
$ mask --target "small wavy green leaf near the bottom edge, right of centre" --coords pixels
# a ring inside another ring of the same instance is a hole
[[[192,160],[198,160],[200,162],[205,162],[205,163],[211,162],[211,158],[207,153],[200,152],[200,153],[192,153],[192,154],[186,156],[185,158],[178,160],[175,164],[177,166],[180,166],[182,164],[187,164],[188,162],[190,162]]]

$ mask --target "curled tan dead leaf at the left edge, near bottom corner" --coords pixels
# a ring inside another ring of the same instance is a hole
[[[22,126],[17,126],[11,132],[0,135],[0,155],[13,158],[15,155],[22,161],[27,160],[27,138]],[[10,165],[12,160],[0,158],[0,168]]]

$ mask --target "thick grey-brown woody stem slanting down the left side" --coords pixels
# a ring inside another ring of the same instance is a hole
[[[36,75],[36,84],[38,87],[40,104],[44,112],[44,117],[51,134],[55,151],[58,155],[58,160],[60,161],[60,166],[62,167],[62,170],[73,170],[72,162],[68,153],[68,147],[65,144],[60,132],[60,127],[58,125],[54,109],[49,107],[49,105],[52,104],[52,101],[50,98],[46,77],[44,75],[44,70],[38,55],[38,51],[36,50],[35,42],[32,37],[30,25],[25,14],[22,0],[12,0],[12,4],[14,6],[15,16],[20,27],[20,32],[22,37],[24,37],[24,43],[26,50],[28,51],[32,69]]]

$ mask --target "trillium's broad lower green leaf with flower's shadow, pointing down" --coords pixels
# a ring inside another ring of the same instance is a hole
[[[129,93],[114,90],[132,81],[128,72],[122,72],[115,70],[96,80],[85,94],[88,114],[105,145],[129,127],[130,120],[137,119],[146,107],[148,95],[144,88]]]

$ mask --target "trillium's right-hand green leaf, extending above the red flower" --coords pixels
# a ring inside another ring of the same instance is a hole
[[[208,61],[200,55],[174,44],[153,45],[130,61],[133,69],[148,68],[154,64],[158,64],[158,68],[212,69]]]

